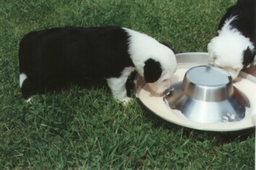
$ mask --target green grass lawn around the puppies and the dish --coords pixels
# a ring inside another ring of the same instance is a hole
[[[176,53],[207,51],[221,16],[234,3],[1,0],[0,169],[255,169],[254,129],[180,127],[139,101],[123,108],[105,85],[73,85],[25,103],[18,82],[19,42],[30,31],[120,25],[168,43]]]

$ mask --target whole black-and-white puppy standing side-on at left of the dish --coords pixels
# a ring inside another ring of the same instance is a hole
[[[125,89],[136,70],[154,93],[170,87],[176,56],[168,46],[125,27],[57,27],[28,33],[20,41],[22,97],[54,90],[87,78],[105,79],[112,95],[124,105],[131,100]]]

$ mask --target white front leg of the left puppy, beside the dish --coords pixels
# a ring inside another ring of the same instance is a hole
[[[128,79],[128,76],[120,76],[118,78],[109,78],[107,79],[107,84],[109,85],[113,97],[117,101],[121,101],[123,106],[127,106],[127,104],[132,100],[127,96],[127,91],[125,88],[125,82]]]

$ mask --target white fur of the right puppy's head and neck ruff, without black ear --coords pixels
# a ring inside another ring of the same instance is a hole
[[[215,67],[225,68],[233,79],[237,77],[243,66],[243,53],[249,47],[253,49],[253,43],[249,38],[241,35],[239,30],[231,27],[230,23],[236,20],[236,16],[226,20],[225,24],[218,30],[218,36],[212,38],[208,44],[210,63]]]

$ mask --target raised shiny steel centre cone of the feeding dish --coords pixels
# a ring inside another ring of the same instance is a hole
[[[199,123],[237,122],[244,118],[249,100],[234,88],[226,71],[216,67],[193,67],[183,82],[170,87],[165,100],[188,119]]]

